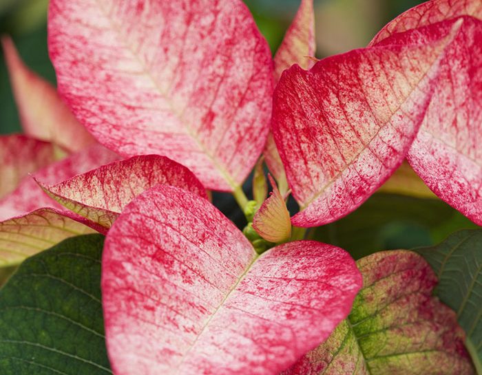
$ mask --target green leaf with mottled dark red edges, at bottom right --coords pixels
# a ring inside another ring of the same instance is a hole
[[[473,375],[455,313],[432,297],[437,278],[406,250],[357,261],[364,286],[330,338],[282,375]]]

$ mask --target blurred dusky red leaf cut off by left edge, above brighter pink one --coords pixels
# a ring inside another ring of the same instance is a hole
[[[0,136],[0,199],[17,188],[28,173],[56,159],[52,144],[21,135]]]

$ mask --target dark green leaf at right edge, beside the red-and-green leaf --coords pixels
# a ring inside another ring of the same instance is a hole
[[[482,230],[461,231],[430,248],[419,248],[439,278],[435,294],[457,312],[467,346],[482,374]]]

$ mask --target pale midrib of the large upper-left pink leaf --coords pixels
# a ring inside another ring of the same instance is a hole
[[[154,79],[154,76],[152,76],[151,72],[149,72],[149,69],[147,69],[145,63],[143,63],[143,61],[141,61],[140,58],[138,58],[138,56],[134,53],[134,49],[132,48],[132,46],[129,45],[127,43],[127,40],[125,40],[125,38],[122,37],[121,28],[118,27],[118,25],[116,24],[114,19],[109,17],[108,12],[106,12],[106,10],[103,8],[103,6],[101,5],[101,3],[98,0],[96,0],[96,4],[97,4],[98,8],[101,9],[101,12],[104,14],[104,17],[112,25],[112,29],[114,30],[114,32],[116,32],[116,34],[118,36],[118,40],[121,41],[121,43],[123,45],[125,45],[126,49],[134,57],[134,60],[137,61],[137,63],[142,68],[143,72],[145,73],[145,76],[147,76],[149,78],[149,80],[153,83],[153,85],[156,88],[156,90],[158,91],[159,95],[164,98],[165,102],[169,106],[169,109],[171,110],[171,113],[174,114],[176,116],[176,118],[178,118],[179,122],[182,124],[183,128],[185,129],[187,135],[191,139],[193,139],[194,142],[196,142],[196,144],[198,145],[198,147],[202,151],[202,153],[204,153],[209,158],[209,160],[211,160],[211,162],[213,163],[213,166],[216,167],[218,172],[222,175],[222,178],[224,178],[224,180],[229,184],[229,186],[231,186],[231,189],[235,189],[235,187],[237,187],[238,184],[236,184],[234,182],[234,180],[231,177],[231,175],[229,174],[229,172],[226,171],[224,169],[224,167],[222,167],[222,165],[220,164],[218,159],[215,156],[211,155],[211,153],[208,151],[207,147],[205,147],[205,144],[203,144],[201,142],[201,140],[198,137],[196,137],[195,133],[193,133],[191,128],[186,124],[185,119],[182,116],[182,114],[180,114],[179,111],[176,111],[176,109],[173,107],[170,100],[167,100],[167,98],[165,97],[165,94],[163,94],[163,90],[160,89],[156,79]]]

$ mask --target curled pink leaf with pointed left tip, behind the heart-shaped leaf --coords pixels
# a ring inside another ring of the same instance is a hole
[[[156,155],[113,162],[52,186],[39,183],[70,211],[107,229],[134,197],[157,184],[178,186],[207,198],[204,186],[189,169]]]

